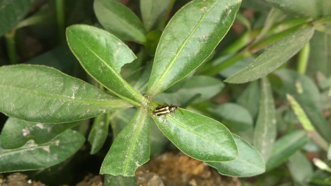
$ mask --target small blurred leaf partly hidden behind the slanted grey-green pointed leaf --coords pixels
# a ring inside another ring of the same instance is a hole
[[[251,57],[251,56],[245,57],[245,58],[235,62],[231,66],[225,68],[224,70],[221,70],[218,74],[225,78],[228,78],[228,77],[232,76],[233,74],[243,70],[247,65],[251,64],[254,60],[255,60],[254,57]]]

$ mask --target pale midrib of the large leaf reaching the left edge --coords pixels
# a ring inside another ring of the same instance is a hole
[[[94,104],[103,104],[103,105],[109,105],[110,103],[112,103],[111,101],[100,102],[100,101],[92,101],[92,100],[76,99],[76,98],[72,99],[72,98],[69,98],[69,97],[63,97],[63,96],[52,95],[52,94],[47,94],[47,93],[35,92],[35,91],[28,90],[28,89],[20,88],[20,87],[13,87],[13,86],[6,86],[6,85],[0,85],[0,87],[12,89],[12,90],[20,90],[20,91],[25,92],[25,93],[36,94],[36,95],[40,95],[40,96],[43,96],[43,97],[51,97],[51,98],[57,98],[57,99],[63,99],[63,100],[82,102],[82,103],[94,103]]]

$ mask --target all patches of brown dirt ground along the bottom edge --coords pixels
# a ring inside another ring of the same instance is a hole
[[[152,158],[136,170],[139,186],[241,186],[238,178],[222,176],[205,163],[180,153],[165,153]],[[46,186],[40,181],[13,173],[4,178],[0,186]],[[68,185],[66,185],[68,186]],[[101,175],[86,175],[76,186],[103,186]]]

